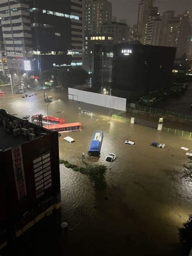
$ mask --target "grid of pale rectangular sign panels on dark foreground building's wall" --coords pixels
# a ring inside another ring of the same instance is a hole
[[[44,195],[45,190],[52,185],[50,153],[33,159],[36,198]]]

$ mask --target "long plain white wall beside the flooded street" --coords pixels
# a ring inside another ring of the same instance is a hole
[[[110,95],[68,88],[68,98],[69,100],[77,100],[107,108],[110,107]],[[111,96],[111,109],[126,111],[126,98]]]

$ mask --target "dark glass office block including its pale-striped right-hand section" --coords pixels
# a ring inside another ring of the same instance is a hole
[[[82,11],[79,9],[82,9],[81,2],[30,0],[32,45],[38,71],[82,64]]]

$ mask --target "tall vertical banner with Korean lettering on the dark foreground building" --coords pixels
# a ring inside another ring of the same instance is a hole
[[[11,149],[13,159],[13,169],[18,199],[21,200],[27,195],[25,173],[23,169],[23,156],[21,146]]]

